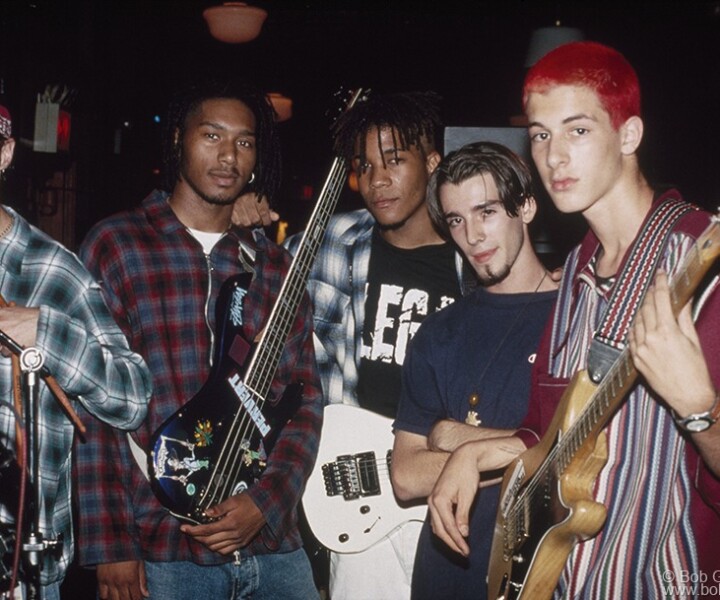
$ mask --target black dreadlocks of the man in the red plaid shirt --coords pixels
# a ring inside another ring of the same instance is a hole
[[[238,80],[209,79],[193,83],[178,91],[170,102],[163,139],[165,188],[171,192],[180,177],[182,139],[187,118],[205,100],[228,98],[239,100],[255,116],[257,159],[255,178],[243,193],[255,192],[272,200],[280,187],[280,143],[275,127],[275,111],[267,96],[252,84]]]

